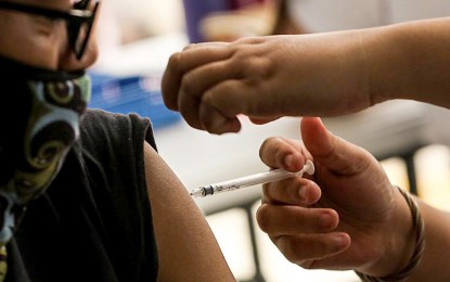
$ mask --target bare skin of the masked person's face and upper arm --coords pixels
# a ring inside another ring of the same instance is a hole
[[[35,0],[17,2],[37,4]],[[68,0],[40,1],[39,5],[62,10],[72,7]],[[77,61],[67,47],[63,22],[0,10],[0,34],[2,38],[9,38],[0,40],[1,55],[34,66],[85,69],[95,62],[98,55],[92,39],[83,57]],[[203,214],[185,188],[149,143],[143,146],[159,255],[158,280],[235,281]],[[167,193],[168,189],[170,193]]]

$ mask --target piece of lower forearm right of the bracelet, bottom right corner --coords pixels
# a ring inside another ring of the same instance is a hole
[[[425,252],[409,281],[448,281],[450,277],[450,214],[417,201],[425,221]]]

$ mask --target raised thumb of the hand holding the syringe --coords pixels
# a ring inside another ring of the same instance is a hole
[[[359,172],[361,162],[370,159],[365,150],[334,136],[318,117],[301,119],[301,138],[314,162],[339,175]]]

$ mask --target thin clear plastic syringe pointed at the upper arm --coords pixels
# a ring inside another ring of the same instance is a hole
[[[217,193],[228,192],[237,190],[244,187],[252,187],[256,184],[263,184],[269,182],[274,182],[279,180],[283,180],[291,177],[301,177],[304,172],[308,175],[314,174],[314,165],[311,161],[307,161],[305,166],[301,168],[300,171],[292,172],[285,169],[279,168],[269,170],[267,172],[255,174],[246,177],[240,177],[232,180],[227,180],[222,182],[218,182],[210,185],[202,185],[197,189],[191,190],[191,196],[193,197],[203,197],[207,195],[214,195]]]

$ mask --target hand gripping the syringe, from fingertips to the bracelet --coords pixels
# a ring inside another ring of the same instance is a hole
[[[257,220],[292,262],[308,269],[355,269],[384,277],[402,269],[414,242],[411,211],[380,163],[329,132],[319,118],[301,121],[304,143],[271,138],[260,149],[270,167],[296,171],[313,159],[312,177],[263,187]]]

